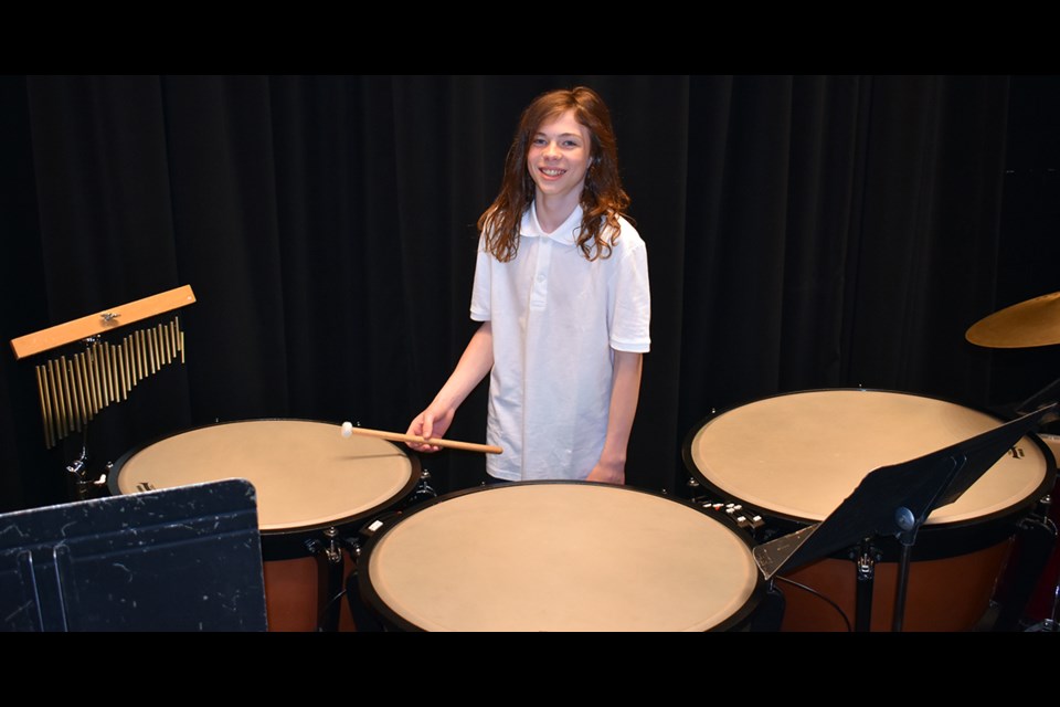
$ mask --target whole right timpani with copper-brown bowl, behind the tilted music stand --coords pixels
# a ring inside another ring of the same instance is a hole
[[[951,402],[877,390],[816,390],[766,398],[707,419],[683,446],[689,473],[725,500],[760,513],[760,540],[824,520],[871,471],[993,430],[1004,421]],[[1020,437],[956,502],[936,508],[912,550],[904,629],[971,630],[989,606],[1020,519],[1048,493],[1052,455]],[[892,624],[899,545],[877,538],[870,627]],[[854,560],[839,555],[782,572],[856,609]],[[842,630],[842,616],[810,592],[784,585],[784,630]],[[863,620],[863,618],[862,618]]]

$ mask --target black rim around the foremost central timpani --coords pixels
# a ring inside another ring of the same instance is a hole
[[[745,624],[751,620],[751,616],[752,616],[753,612],[754,612],[755,609],[757,608],[759,603],[762,601],[762,598],[763,598],[763,594],[764,594],[765,582],[764,582],[764,579],[762,578],[762,573],[761,573],[761,571],[757,569],[757,566],[756,566],[756,563],[755,563],[755,561],[754,561],[754,558],[753,558],[752,549],[753,549],[753,547],[754,547],[754,542],[753,542],[752,538],[751,538],[745,531],[743,531],[741,528],[739,528],[739,526],[736,526],[736,524],[735,524],[732,519],[728,518],[728,517],[724,516],[724,515],[713,515],[713,514],[710,514],[710,513],[708,513],[707,510],[704,510],[703,508],[697,506],[696,504],[692,504],[692,503],[687,502],[687,500],[685,500],[685,499],[675,498],[675,497],[672,497],[672,496],[667,496],[667,495],[664,495],[664,494],[660,494],[660,493],[655,493],[655,492],[647,490],[647,489],[635,488],[635,487],[630,487],[630,486],[619,486],[619,485],[613,485],[613,484],[600,484],[600,483],[584,482],[584,481],[560,481],[560,479],[530,481],[530,482],[513,482],[513,483],[485,485],[485,486],[478,486],[478,487],[475,487],[475,488],[467,488],[467,489],[456,490],[456,492],[452,492],[452,493],[448,493],[448,494],[438,496],[438,497],[433,498],[433,499],[431,499],[431,500],[427,500],[427,502],[425,502],[425,503],[422,503],[422,504],[417,505],[415,508],[411,509],[410,511],[403,513],[401,516],[399,516],[399,517],[396,517],[395,519],[393,519],[393,521],[390,523],[390,525],[383,526],[383,527],[380,528],[374,535],[372,535],[371,538],[369,539],[368,544],[367,544],[367,545],[364,546],[364,548],[362,549],[362,553],[361,553],[360,560],[359,560],[359,568],[360,568],[360,569],[359,569],[359,571],[358,571],[358,585],[359,585],[361,599],[364,601],[364,603],[365,603],[368,606],[370,606],[370,608],[382,619],[382,621],[383,621],[386,625],[389,625],[389,626],[391,626],[391,627],[394,627],[394,629],[400,630],[400,631],[413,631],[413,632],[435,630],[435,629],[432,629],[431,626],[428,626],[428,627],[425,629],[423,625],[420,625],[420,624],[415,623],[415,621],[414,621],[412,618],[410,618],[410,616],[401,613],[403,606],[395,609],[395,608],[392,606],[390,603],[388,603],[386,598],[383,597],[383,592],[381,592],[381,591],[378,590],[377,584],[378,584],[378,583],[381,583],[381,582],[373,581],[373,577],[378,576],[378,574],[380,573],[380,571],[381,571],[380,568],[378,568],[378,566],[377,566],[378,563],[377,563],[377,561],[375,561],[375,559],[378,558],[378,556],[379,556],[379,553],[380,553],[380,551],[381,551],[381,548],[382,548],[382,551],[386,551],[385,545],[386,545],[388,540],[391,539],[391,538],[393,538],[393,537],[395,537],[395,534],[396,534],[396,532],[400,532],[403,528],[415,528],[415,526],[412,525],[412,524],[415,524],[415,523],[417,521],[417,519],[422,519],[422,518],[426,517],[424,514],[442,513],[441,510],[437,510],[437,509],[438,509],[439,507],[445,508],[445,505],[446,505],[446,504],[449,505],[449,506],[448,506],[449,509],[453,509],[453,508],[455,507],[455,506],[453,506],[453,504],[458,504],[458,503],[462,502],[462,499],[466,499],[467,497],[470,497],[470,496],[478,496],[478,495],[480,495],[480,494],[527,494],[527,493],[532,493],[532,492],[530,492],[529,489],[531,489],[531,488],[533,488],[533,487],[568,487],[568,488],[571,488],[571,489],[579,488],[579,489],[586,490],[586,492],[590,493],[590,494],[600,494],[600,493],[608,493],[608,492],[610,492],[610,493],[616,493],[616,494],[636,494],[637,497],[639,497],[639,496],[645,496],[645,497],[648,497],[648,498],[653,499],[653,503],[656,503],[656,502],[657,502],[657,503],[662,503],[662,504],[674,504],[672,507],[674,507],[674,508],[680,508],[680,509],[681,509],[681,513],[693,513],[693,514],[696,514],[697,516],[701,516],[702,518],[701,518],[701,519],[697,519],[695,523],[697,523],[697,524],[698,524],[698,523],[708,524],[708,526],[704,526],[704,527],[710,527],[710,528],[711,528],[710,532],[716,532],[716,531],[718,531],[718,530],[722,530],[724,535],[721,536],[721,537],[725,538],[725,541],[727,541],[727,542],[731,542],[731,545],[733,545],[733,546],[739,546],[739,547],[741,548],[740,551],[739,551],[739,552],[741,553],[741,557],[739,558],[739,560],[741,560],[741,561],[746,561],[746,562],[749,563],[750,570],[753,570],[753,579],[752,579],[752,574],[746,574],[745,577],[743,577],[743,578],[742,578],[743,581],[750,584],[750,589],[748,589],[746,585],[740,587],[740,588],[739,588],[739,589],[740,589],[740,593],[738,593],[738,594],[736,594],[735,597],[733,597],[733,599],[732,599],[732,603],[742,602],[742,604],[741,604],[738,609],[735,609],[731,614],[729,614],[728,616],[718,620],[717,623],[714,623],[713,625],[706,626],[706,627],[703,627],[702,630],[706,630],[706,631],[731,631],[731,630],[741,627],[741,626],[745,625]],[[495,496],[495,497],[496,497],[496,496]],[[670,506],[667,506],[667,507],[669,508]],[[460,510],[463,510],[463,509],[460,509]],[[443,517],[444,517],[444,516],[443,516]],[[691,516],[689,516],[689,517],[691,517]],[[714,526],[714,525],[713,525],[714,523],[720,524],[720,525],[719,525],[719,526]],[[452,527],[452,524],[451,524],[451,527]],[[478,526],[476,526],[476,527],[478,527]],[[432,529],[432,530],[437,530],[437,527],[435,526],[435,527],[433,527],[433,528],[431,528],[431,529]],[[443,528],[443,530],[445,530],[445,529],[446,529],[446,528]],[[422,530],[418,529],[418,528],[416,528],[416,529],[413,530],[413,531],[414,531],[414,532],[421,532],[421,534],[422,534]],[[635,532],[637,532],[637,529],[636,529],[635,527],[633,527],[633,528],[626,528],[626,531],[627,531],[627,532],[634,532],[634,534],[635,534]],[[414,536],[413,539],[418,539],[418,538],[415,538],[415,536]],[[406,547],[416,547],[415,544],[410,544],[409,541],[405,541],[405,546],[406,546]],[[517,548],[517,549],[518,549],[518,548]],[[743,551],[746,552],[745,558],[742,556],[742,552],[743,552]],[[465,556],[466,556],[466,553],[465,553]],[[526,559],[524,556],[517,556],[517,557],[520,557],[520,560],[524,560],[524,559]],[[750,571],[750,570],[749,570],[749,571]],[[432,576],[432,579],[434,579],[434,577],[435,577],[435,576]],[[407,583],[407,582],[406,582],[406,583]],[[743,595],[744,592],[746,593],[745,597]],[[638,605],[640,605],[640,604],[638,604]],[[428,621],[425,621],[424,623],[428,623]],[[523,627],[516,627],[516,629],[511,629],[511,627],[497,627],[497,629],[495,629],[495,627],[467,627],[467,626],[465,626],[465,627],[460,627],[460,626],[452,627],[452,626],[451,626],[451,627],[441,627],[439,630],[455,630],[455,631],[495,631],[495,630],[499,630],[499,631],[526,631],[526,630],[532,630],[532,631],[542,631],[542,630],[544,630],[544,631],[556,631],[556,630],[558,630],[558,631],[584,631],[584,630],[589,630],[589,631],[611,631],[611,630],[613,630],[613,629],[610,629],[610,627],[607,627],[607,629],[603,629],[603,627],[600,627],[600,629],[583,629],[583,627],[562,627],[562,629],[541,629],[541,627],[523,629]],[[623,629],[614,629],[614,630],[627,631],[627,630],[630,630],[630,629],[624,629],[624,627],[623,627]],[[633,630],[636,631],[636,630],[644,630],[644,629],[633,629]],[[648,630],[648,631],[653,631],[653,629],[647,629],[647,630]],[[655,629],[655,630],[659,630],[659,629]]]

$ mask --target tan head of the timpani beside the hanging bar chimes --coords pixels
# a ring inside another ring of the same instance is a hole
[[[346,439],[337,424],[250,420],[181,432],[119,460],[112,494],[245,478],[257,492],[264,535],[364,518],[407,495],[418,462],[374,437]]]

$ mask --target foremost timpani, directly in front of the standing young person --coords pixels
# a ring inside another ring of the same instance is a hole
[[[728,518],[626,486],[527,482],[420,505],[368,542],[361,597],[422,631],[706,631],[762,579]]]

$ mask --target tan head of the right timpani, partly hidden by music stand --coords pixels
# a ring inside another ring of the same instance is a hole
[[[759,400],[718,414],[686,444],[689,471],[749,506],[787,519],[824,520],[880,467],[907,462],[1001,424],[923,395],[818,390]],[[1006,514],[1036,500],[1054,473],[1042,444],[1024,436],[926,526]]]

